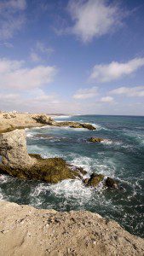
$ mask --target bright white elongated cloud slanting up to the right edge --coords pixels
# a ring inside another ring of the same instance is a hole
[[[135,58],[128,62],[112,61],[106,65],[95,65],[90,78],[98,82],[110,82],[134,73],[138,68],[144,66],[144,58]]]

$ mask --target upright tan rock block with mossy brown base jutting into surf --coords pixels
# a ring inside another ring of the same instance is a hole
[[[0,137],[0,148],[2,155],[0,172],[47,183],[58,183],[66,178],[81,177],[81,170],[79,168],[72,170],[63,159],[43,159],[39,154],[28,154],[26,132],[23,130],[3,133]]]

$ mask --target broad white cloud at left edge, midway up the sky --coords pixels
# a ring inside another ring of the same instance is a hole
[[[55,67],[41,65],[27,68],[24,64],[23,61],[0,59],[0,87],[30,90],[53,81]]]

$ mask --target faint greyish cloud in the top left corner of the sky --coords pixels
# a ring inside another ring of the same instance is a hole
[[[9,0],[0,3],[0,39],[12,38],[25,23],[23,15],[26,0]]]

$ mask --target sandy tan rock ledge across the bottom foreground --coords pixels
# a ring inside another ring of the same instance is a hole
[[[0,255],[144,255],[142,238],[97,213],[38,210],[0,201],[0,219]]]

